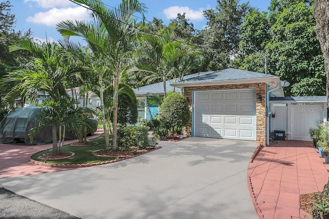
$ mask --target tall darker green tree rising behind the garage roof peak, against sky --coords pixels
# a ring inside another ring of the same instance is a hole
[[[249,10],[248,3],[239,0],[217,0],[215,9],[204,11],[207,28],[197,35],[205,53],[204,70],[221,70],[229,66],[230,56],[238,52],[240,26]]]

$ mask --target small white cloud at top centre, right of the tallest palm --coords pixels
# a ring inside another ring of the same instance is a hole
[[[171,6],[163,10],[163,13],[166,15],[168,19],[173,19],[177,17],[177,14],[186,13],[186,18],[189,18],[194,21],[201,21],[204,19],[203,8],[199,8],[198,10],[190,9],[189,7],[181,7],[181,6]]]

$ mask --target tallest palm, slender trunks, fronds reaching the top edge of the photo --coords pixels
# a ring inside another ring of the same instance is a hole
[[[140,13],[144,17],[145,6],[137,0],[122,0],[118,8],[109,9],[98,0],[76,0],[77,3],[86,5],[93,11],[94,22],[65,21],[57,25],[58,31],[65,37],[80,36],[85,39],[90,49],[99,57],[95,61],[103,61],[108,66],[100,69],[98,64],[99,91],[103,114],[106,149],[109,147],[108,135],[105,127],[105,114],[103,102],[103,77],[111,69],[114,87],[113,106],[113,143],[112,149],[118,150],[117,122],[118,122],[118,84],[124,69],[127,51],[136,37],[136,19],[134,14]],[[100,59],[99,59],[100,58]],[[107,140],[106,140],[107,138]]]

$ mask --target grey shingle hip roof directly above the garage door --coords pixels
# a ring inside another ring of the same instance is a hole
[[[240,79],[264,78],[264,77],[276,77],[276,76],[271,74],[264,74],[264,73],[228,68],[221,71],[213,72],[211,74],[204,74],[192,78],[187,78],[180,83],[230,81],[236,79],[240,80]]]

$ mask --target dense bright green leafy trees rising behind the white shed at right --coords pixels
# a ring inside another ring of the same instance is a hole
[[[312,1],[272,0],[269,15],[250,11],[241,26],[240,68],[267,72],[290,82],[287,95],[325,93],[324,66]]]

